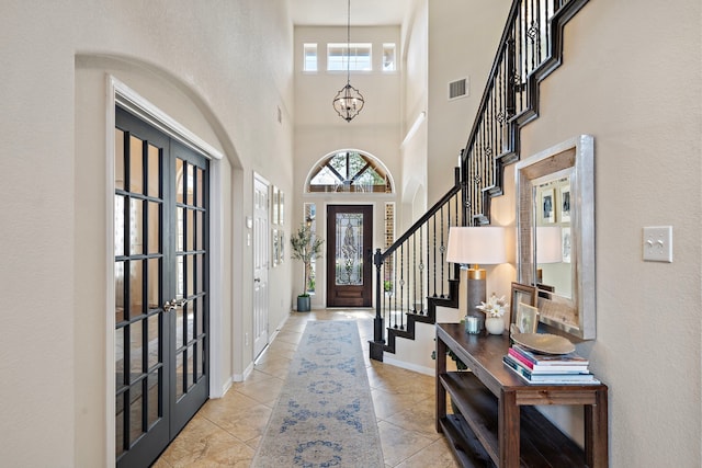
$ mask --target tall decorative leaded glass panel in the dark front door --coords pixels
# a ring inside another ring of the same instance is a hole
[[[336,284],[363,284],[363,214],[337,213]]]

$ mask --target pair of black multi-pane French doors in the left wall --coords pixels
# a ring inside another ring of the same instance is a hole
[[[116,460],[147,467],[210,392],[207,160],[115,122]]]

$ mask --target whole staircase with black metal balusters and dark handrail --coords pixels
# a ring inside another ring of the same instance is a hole
[[[503,168],[519,160],[519,135],[539,116],[539,84],[562,64],[565,24],[588,0],[513,0],[454,185],[385,252],[374,254],[371,358],[395,353],[437,307],[458,307],[458,265],[445,261],[449,229],[490,222]]]

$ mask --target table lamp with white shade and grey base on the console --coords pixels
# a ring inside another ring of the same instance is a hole
[[[452,227],[449,229],[446,261],[460,263],[461,270],[467,270],[466,315],[484,317],[477,306],[487,300],[487,274],[479,265],[494,265],[507,261],[505,228]]]

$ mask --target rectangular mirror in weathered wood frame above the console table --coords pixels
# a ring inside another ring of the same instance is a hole
[[[596,338],[595,139],[580,135],[516,165],[518,277],[542,323]]]

